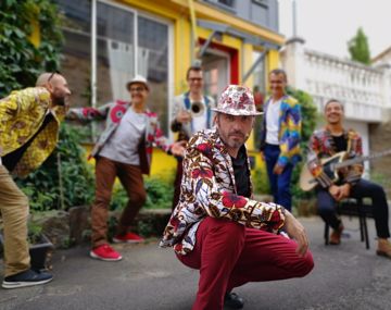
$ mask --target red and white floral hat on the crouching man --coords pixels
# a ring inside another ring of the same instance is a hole
[[[220,112],[230,115],[262,115],[255,109],[254,97],[247,86],[228,85],[224,89],[217,107],[212,109],[215,112]]]

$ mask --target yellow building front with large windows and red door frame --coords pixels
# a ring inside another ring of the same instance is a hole
[[[149,107],[168,136],[173,98],[186,90],[194,62],[202,63],[205,92],[214,97],[228,84],[256,85],[265,94],[266,72],[279,63],[277,0],[55,2],[64,15],[61,69],[74,104],[128,100],[126,82],[142,74],[151,84]],[[249,146],[254,149],[253,139]],[[175,166],[173,158],[156,154],[152,174]]]

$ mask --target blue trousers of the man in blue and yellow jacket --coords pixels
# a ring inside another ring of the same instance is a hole
[[[267,145],[264,149],[267,175],[270,184],[270,190],[274,202],[281,204],[287,210],[292,210],[292,195],[290,184],[293,171],[293,164],[288,163],[281,174],[274,174],[273,170],[280,154],[279,146]]]

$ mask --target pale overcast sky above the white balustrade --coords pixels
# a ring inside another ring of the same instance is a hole
[[[391,47],[391,0],[295,0],[298,35],[307,48],[348,58],[346,42],[361,26],[370,55]],[[279,0],[280,33],[292,36],[292,0]]]

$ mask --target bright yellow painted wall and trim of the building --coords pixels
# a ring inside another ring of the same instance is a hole
[[[155,14],[157,16],[169,20],[173,23],[174,33],[174,95],[181,94],[187,90],[186,71],[191,65],[194,54],[192,50],[192,30],[190,21],[190,9],[188,0],[118,0],[122,4],[130,5],[133,8],[142,10],[147,13]],[[215,10],[202,2],[193,1],[193,8],[197,18],[205,18],[217,23],[225,23],[236,27],[242,32],[252,35],[257,35],[272,42],[282,45],[283,37],[262,28],[255,24],[248,23],[241,18],[235,18],[232,15]],[[199,38],[207,39],[212,30],[197,26],[197,35]],[[241,39],[223,35],[222,40],[218,41],[226,47],[238,50],[239,59],[239,82],[242,82],[243,74],[251,67],[253,63],[252,52],[254,47],[250,44],[244,44]],[[277,67],[279,62],[278,51],[269,51],[266,58],[266,72],[270,69]],[[250,76],[245,82],[250,88],[253,87],[253,79]],[[250,154],[255,157],[257,168],[263,166],[263,162],[255,150],[254,139],[251,136],[247,144]],[[151,175],[164,178],[173,178],[176,171],[176,160],[172,156],[167,156],[160,149],[153,150],[153,160],[151,166]]]

